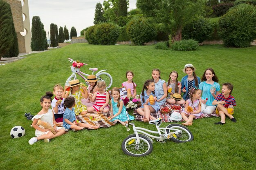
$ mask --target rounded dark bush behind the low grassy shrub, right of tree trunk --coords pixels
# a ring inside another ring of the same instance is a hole
[[[212,30],[213,24],[205,18],[200,18],[184,26],[182,37],[183,39],[194,39],[203,42],[211,37]]]

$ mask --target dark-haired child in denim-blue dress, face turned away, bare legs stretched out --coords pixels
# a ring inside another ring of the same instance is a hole
[[[72,128],[72,130],[82,130],[85,128],[88,128],[88,129],[99,128],[99,126],[93,126],[90,124],[84,124],[84,123],[79,122],[76,119],[75,111],[73,108],[75,106],[75,104],[76,104],[76,102],[75,102],[74,97],[70,96],[65,99],[64,105],[66,107],[66,110],[63,115],[63,127],[66,129]]]

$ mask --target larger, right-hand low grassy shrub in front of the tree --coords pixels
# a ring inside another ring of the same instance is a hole
[[[173,43],[169,40],[169,44],[171,49],[175,51],[193,51],[198,49],[198,42],[193,39],[180,40]]]

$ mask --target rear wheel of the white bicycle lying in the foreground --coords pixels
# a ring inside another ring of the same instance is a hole
[[[175,132],[177,130],[181,130],[181,132],[175,132],[175,135],[171,137],[171,140],[176,143],[184,143],[188,141],[192,141],[194,139],[192,132],[186,128],[186,126],[180,124],[169,124],[166,128],[173,128],[175,130],[166,129],[166,135],[170,132]]]

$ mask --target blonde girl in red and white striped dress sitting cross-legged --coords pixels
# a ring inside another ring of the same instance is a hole
[[[94,102],[95,104],[91,107],[87,108],[88,112],[97,111],[97,112],[103,112],[107,113],[109,112],[109,94],[105,91],[106,89],[106,83],[105,82],[98,82],[97,83],[98,91],[94,94],[89,93],[90,101]]]

